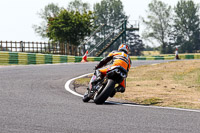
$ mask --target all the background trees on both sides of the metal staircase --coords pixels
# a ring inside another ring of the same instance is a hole
[[[134,13],[133,13],[134,14]],[[33,28],[43,38],[50,41],[79,46],[101,24],[110,28],[118,26],[123,20],[129,23],[121,0],[102,0],[93,5],[81,0],[73,0],[67,7],[59,7],[51,3],[39,13],[42,22]],[[200,13],[199,5],[192,0],[179,0],[175,7],[152,0],[148,5],[147,17],[142,17],[146,26],[142,38],[153,41],[159,46],[161,53],[173,53],[176,47],[180,52],[197,52],[200,50]],[[109,29],[105,31],[109,34]],[[127,34],[127,40],[136,38]],[[130,44],[135,55],[144,50],[144,43],[136,38]],[[148,46],[146,46],[148,47]]]

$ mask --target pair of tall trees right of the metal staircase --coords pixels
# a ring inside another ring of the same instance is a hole
[[[175,7],[158,0],[148,5],[143,38],[156,40],[161,53],[173,53],[178,48],[182,53],[200,50],[199,5],[192,0],[179,0]]]

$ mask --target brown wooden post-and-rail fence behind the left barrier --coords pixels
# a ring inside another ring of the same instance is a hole
[[[0,51],[60,55],[82,55],[81,48],[64,43],[0,41]]]

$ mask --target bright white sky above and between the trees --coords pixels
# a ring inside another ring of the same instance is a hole
[[[67,7],[72,0],[0,0],[0,41],[30,41],[46,42],[38,36],[32,26],[39,25],[42,19],[38,12],[44,9],[49,3],[58,4],[60,7]],[[91,5],[99,3],[101,0],[82,0]],[[141,17],[146,17],[146,10],[151,0],[121,0],[124,11],[129,16],[130,22],[141,21]],[[161,0],[168,5],[175,6],[178,0]],[[199,0],[193,0],[200,3]],[[143,25],[140,24],[139,34],[144,32]]]

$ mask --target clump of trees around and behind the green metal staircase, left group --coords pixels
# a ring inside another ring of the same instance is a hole
[[[81,0],[71,1],[66,8],[51,3],[45,6],[38,15],[42,22],[34,25],[33,28],[39,36],[76,47],[98,26],[107,25],[107,29],[103,31],[106,36],[122,21],[128,19],[121,0],[102,0],[94,4],[93,9]],[[98,35],[95,37],[97,42],[100,37]],[[139,45],[144,47],[141,42]],[[136,51],[142,50],[138,44],[132,45],[131,48],[138,49]]]

